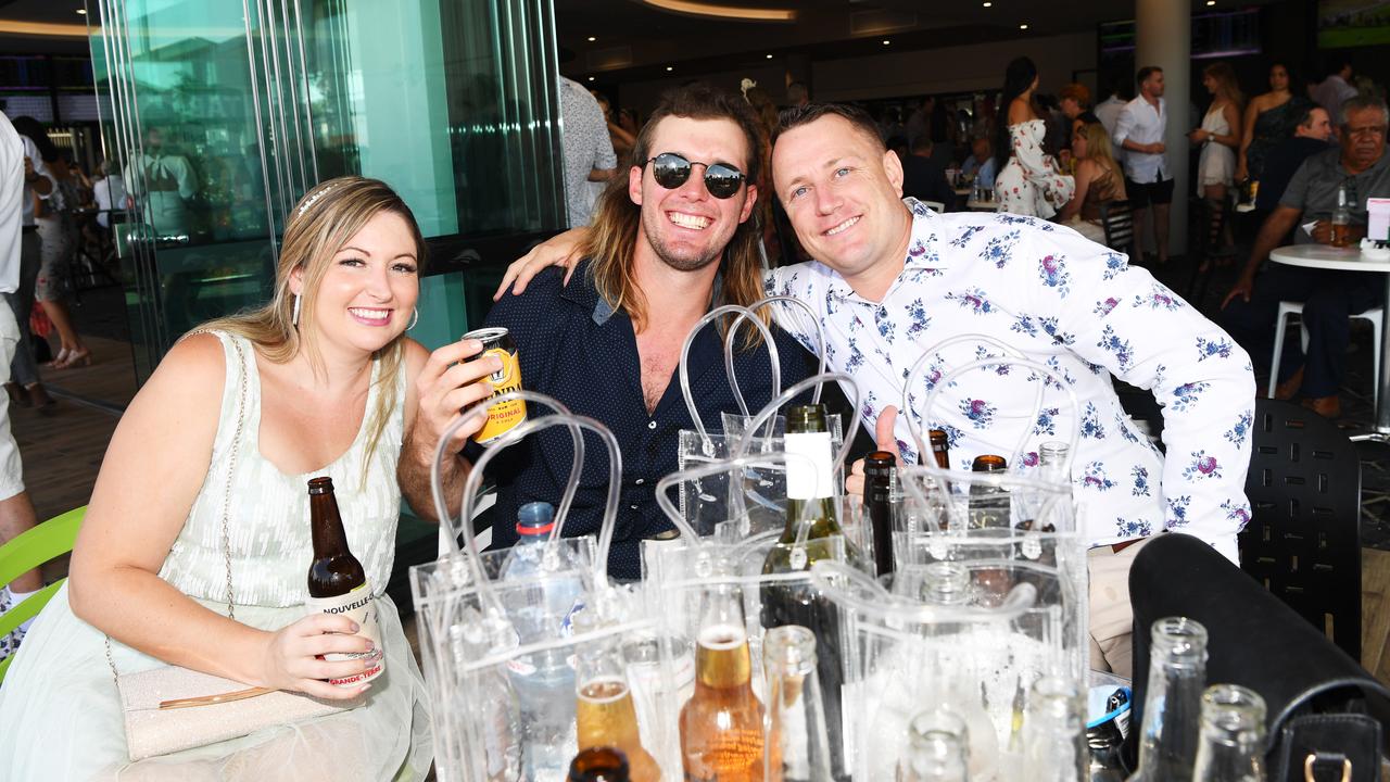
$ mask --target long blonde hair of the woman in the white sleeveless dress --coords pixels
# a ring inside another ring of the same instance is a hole
[[[279,263],[275,267],[275,291],[270,302],[249,312],[210,320],[190,334],[227,331],[243,337],[263,356],[275,363],[285,363],[303,351],[314,373],[324,373],[322,352],[311,328],[318,287],[332,263],[332,257],[373,217],[382,213],[396,214],[410,227],[410,235],[416,242],[416,266],[423,269],[425,241],[420,235],[420,227],[406,202],[379,179],[338,177],[321,182],[304,193],[304,198],[289,213],[289,223],[285,225],[285,237],[279,249]],[[291,274],[300,269],[303,270],[303,301],[299,308],[299,327],[296,327],[293,323],[295,294],[289,289],[289,281]],[[404,360],[403,340],[404,334],[398,334],[395,340],[373,355],[373,359],[381,362],[381,370],[377,374],[379,385],[377,405],[367,410],[364,422],[368,433],[368,452],[375,449],[398,404],[396,376]],[[364,469],[366,463],[370,463],[370,459],[364,462]]]

